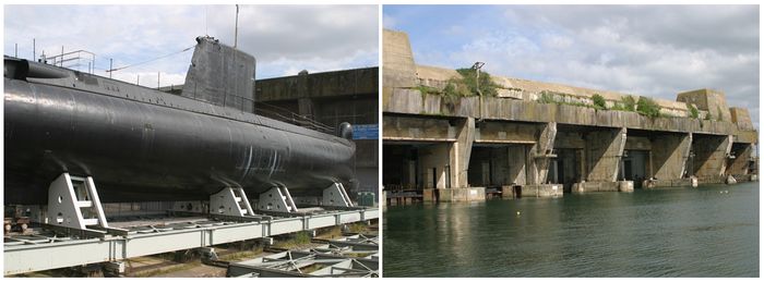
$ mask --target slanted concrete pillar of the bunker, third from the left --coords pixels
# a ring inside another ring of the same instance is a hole
[[[586,135],[587,182],[616,182],[626,144],[626,128],[604,130]]]

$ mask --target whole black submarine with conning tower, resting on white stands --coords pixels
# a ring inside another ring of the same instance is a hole
[[[4,57],[5,205],[46,205],[64,172],[92,176],[103,203],[357,185],[350,124],[327,134],[254,114],[254,70],[206,36],[181,95]]]

